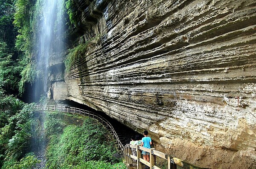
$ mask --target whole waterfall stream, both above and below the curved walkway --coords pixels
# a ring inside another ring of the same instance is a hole
[[[38,90],[34,100],[43,96],[52,97],[50,93],[51,80],[49,69],[54,67],[52,64],[54,59],[59,59],[64,51],[64,39],[62,38],[65,31],[64,0],[42,0],[38,1],[41,4],[41,20],[38,24],[37,46],[35,51],[38,51],[37,68],[41,71],[41,79],[35,82],[35,90]],[[53,57],[54,56],[54,57]],[[58,66],[55,67],[59,68]],[[42,93],[43,92],[43,93]],[[39,95],[39,96],[38,96]],[[52,98],[49,98],[52,99]],[[36,123],[32,127],[34,130],[32,137],[32,152],[35,153],[41,163],[36,166],[36,169],[43,169],[46,163],[45,151],[47,147],[47,138],[45,136],[44,121],[45,113],[35,112]]]

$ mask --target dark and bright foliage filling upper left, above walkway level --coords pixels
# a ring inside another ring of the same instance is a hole
[[[27,66],[27,58],[31,58],[33,47],[30,24],[32,2],[0,1],[0,84],[8,93],[15,95],[19,89],[23,92],[21,72],[22,83],[31,82],[35,77],[32,66]]]

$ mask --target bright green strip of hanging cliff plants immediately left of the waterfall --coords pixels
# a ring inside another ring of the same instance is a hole
[[[35,25],[37,22],[34,21],[38,17],[33,16],[32,10],[35,10],[34,0],[16,0],[15,1],[15,14],[14,14],[14,25],[18,28],[18,35],[16,37],[15,47],[20,52],[19,65],[22,67],[20,70],[20,82],[18,89],[20,94],[24,92],[26,83],[33,83],[38,75],[35,67],[34,58],[34,35]],[[36,16],[39,12],[35,12]],[[34,20],[33,20],[34,19]]]

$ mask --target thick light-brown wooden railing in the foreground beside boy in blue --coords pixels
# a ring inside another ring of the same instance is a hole
[[[136,154],[137,156],[134,156],[131,154],[131,149],[136,149]],[[141,157],[141,152],[149,152],[149,162],[143,160]],[[156,166],[156,157],[162,158],[167,161],[168,169],[177,169],[177,166],[182,167],[183,169],[208,169],[208,168],[201,168],[198,166],[195,166],[193,164],[187,163],[185,161],[182,161],[178,158],[175,157],[175,155],[167,155],[163,152],[159,152],[155,149],[147,149],[142,146],[137,146],[137,145],[131,145],[131,144],[126,144],[125,145],[125,161],[128,166],[133,165],[133,160],[137,161],[137,169],[142,169],[142,165],[144,164],[145,166],[150,167],[150,169],[161,169],[160,167]]]

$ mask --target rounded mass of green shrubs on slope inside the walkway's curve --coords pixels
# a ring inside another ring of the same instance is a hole
[[[51,136],[47,148],[47,167],[112,169],[112,163],[119,162],[119,159],[112,157],[114,153],[116,149],[108,132],[94,119],[87,118],[82,127],[70,125],[61,135]]]

